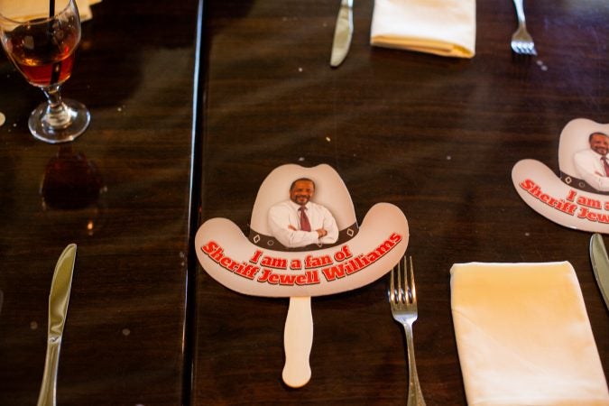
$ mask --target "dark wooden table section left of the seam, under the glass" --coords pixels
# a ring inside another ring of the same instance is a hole
[[[2,405],[36,404],[51,276],[69,243],[78,256],[58,404],[188,402],[198,2],[103,0],[92,9],[63,91],[91,111],[76,142],[29,134],[42,92],[0,57]]]

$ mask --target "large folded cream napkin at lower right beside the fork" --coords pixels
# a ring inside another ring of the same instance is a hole
[[[450,274],[470,406],[609,405],[570,263],[456,263]]]

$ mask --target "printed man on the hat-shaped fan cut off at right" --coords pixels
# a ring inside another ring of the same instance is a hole
[[[592,133],[588,136],[588,143],[590,148],[576,152],[573,156],[579,176],[592,188],[609,191],[609,135]]]

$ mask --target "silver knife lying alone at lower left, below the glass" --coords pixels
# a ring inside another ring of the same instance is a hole
[[[41,392],[38,406],[55,406],[57,389],[57,370],[60,364],[61,337],[68,314],[69,291],[72,286],[76,245],[70,244],[60,255],[55,265],[51,293],[49,293],[49,335],[47,356],[44,361]]]

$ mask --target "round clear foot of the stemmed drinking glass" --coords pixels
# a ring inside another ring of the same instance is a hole
[[[36,107],[28,120],[30,133],[45,143],[69,143],[83,134],[91,122],[87,107],[69,98],[64,98],[63,104],[66,107],[66,116],[60,123],[50,123],[52,120],[47,118],[49,115],[47,103]]]

